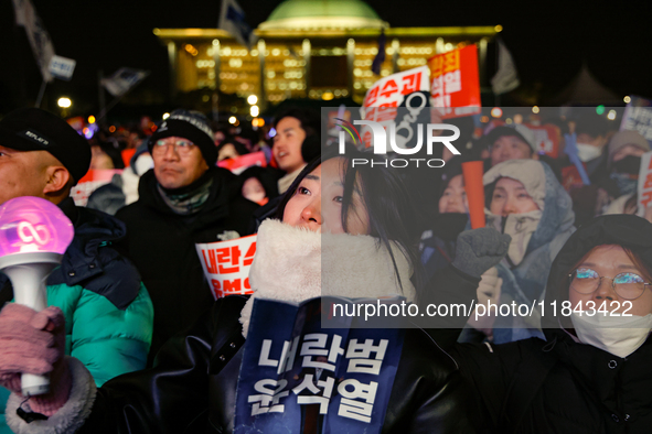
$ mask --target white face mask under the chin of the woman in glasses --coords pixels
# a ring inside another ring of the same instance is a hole
[[[652,314],[645,316],[611,316],[596,312],[570,315],[577,338],[609,354],[624,358],[634,352],[648,339],[652,330]]]

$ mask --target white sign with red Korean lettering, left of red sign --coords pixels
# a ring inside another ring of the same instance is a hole
[[[364,97],[361,117],[388,128],[394,124],[397,108],[406,97],[416,91],[430,91],[430,72],[428,66],[420,66],[381,78],[368,89]],[[360,131],[365,148],[372,145],[372,131],[364,127]]]

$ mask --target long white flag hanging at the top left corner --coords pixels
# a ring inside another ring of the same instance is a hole
[[[49,67],[54,55],[54,45],[52,45],[50,34],[43,26],[31,0],[13,0],[13,9],[15,11],[15,23],[25,28],[43,80],[52,82],[53,78]]]

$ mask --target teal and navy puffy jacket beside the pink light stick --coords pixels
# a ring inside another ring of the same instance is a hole
[[[101,386],[145,368],[153,307],[133,264],[110,247],[125,236],[125,225],[107,214],[75,207],[73,199],[60,208],[73,221],[75,237],[47,279],[47,305],[61,307],[65,315],[66,355],[79,359]],[[1,273],[0,287],[2,299],[11,300],[11,283]],[[4,400],[6,394],[0,392]]]

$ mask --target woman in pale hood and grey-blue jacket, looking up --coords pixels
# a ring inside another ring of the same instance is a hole
[[[502,280],[501,304],[541,300],[548,271],[564,242],[575,231],[573,204],[551,167],[535,160],[510,160],[483,176],[487,225],[512,237],[496,265]],[[522,324],[524,323],[524,324]],[[537,315],[498,316],[496,344],[543,336]]]

